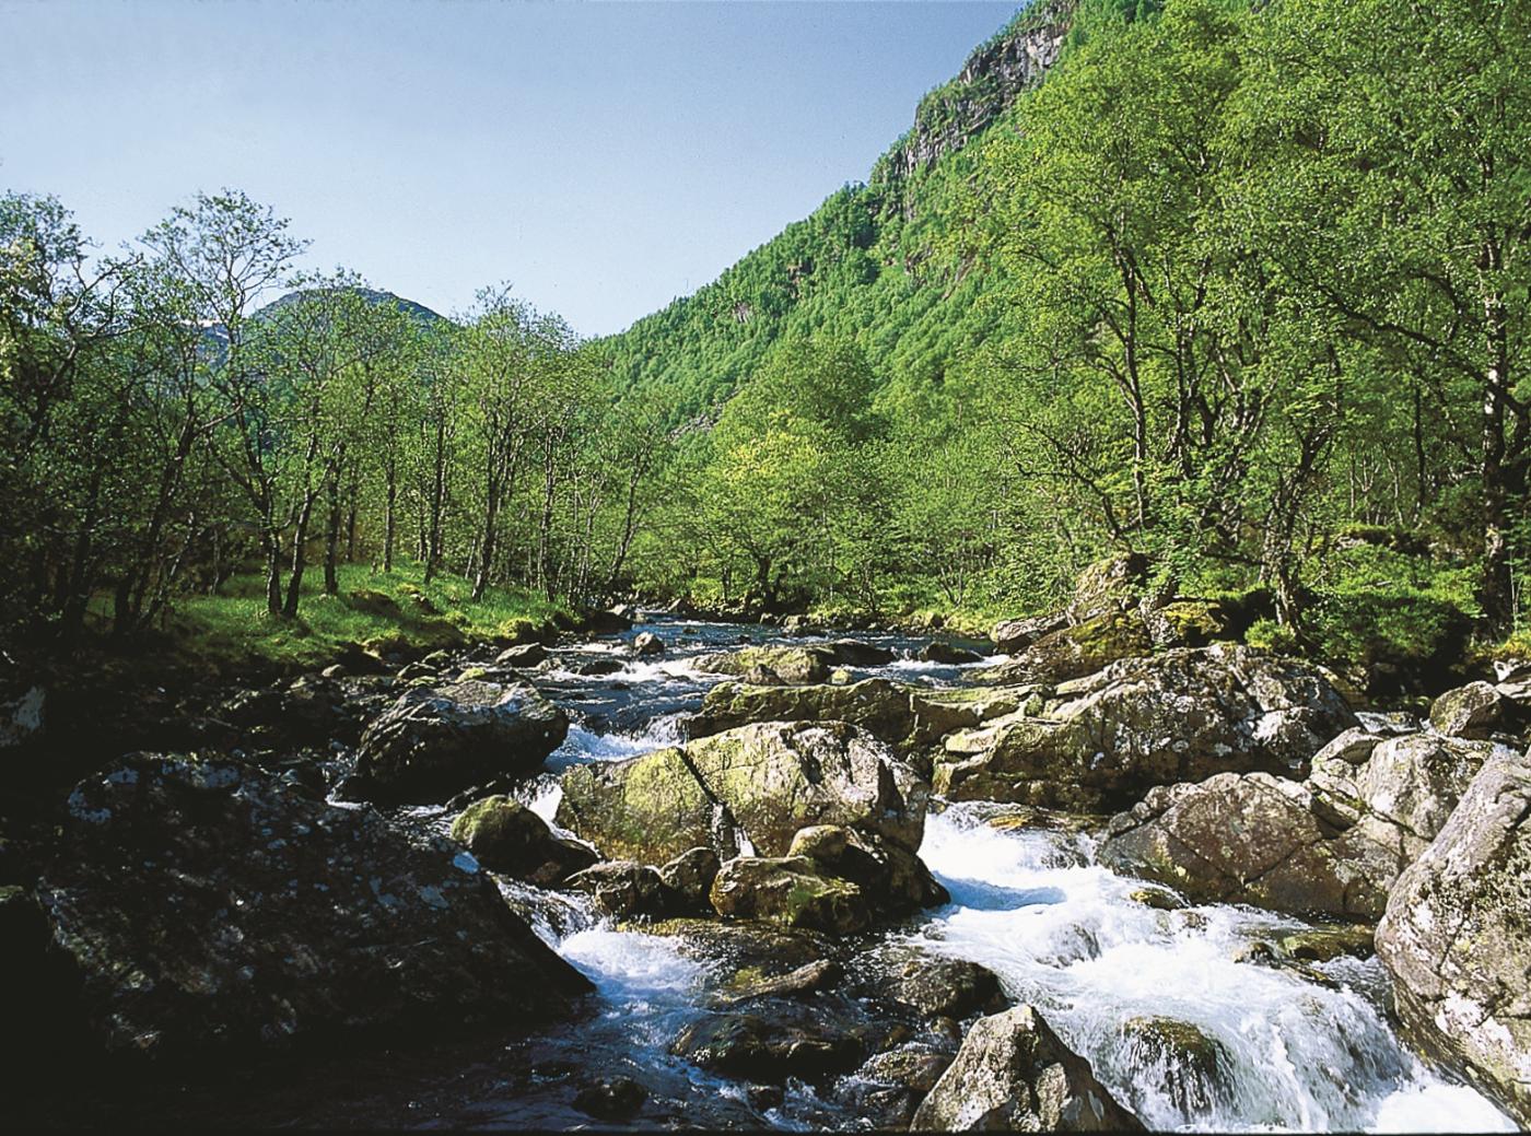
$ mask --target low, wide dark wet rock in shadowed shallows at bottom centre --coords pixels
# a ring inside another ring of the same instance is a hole
[[[758,1081],[801,1076],[822,1081],[860,1064],[865,1044],[837,1024],[808,1012],[770,1018],[761,1014],[715,1014],[689,1026],[671,1053],[703,1069]]]

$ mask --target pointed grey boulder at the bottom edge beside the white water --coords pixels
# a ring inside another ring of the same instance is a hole
[[[978,1018],[914,1115],[923,1131],[1141,1131],[1030,1006]]]

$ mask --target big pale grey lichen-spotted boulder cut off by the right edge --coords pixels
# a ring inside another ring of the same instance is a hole
[[[1531,1127],[1531,759],[1499,750],[1376,928],[1405,1032]]]

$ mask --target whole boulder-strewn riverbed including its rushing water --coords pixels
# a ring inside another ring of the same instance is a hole
[[[1058,677],[1029,631],[625,623],[224,692],[175,723],[196,756],[86,778],[3,912],[93,1089],[17,1119],[1531,1116],[1508,703],[1358,713],[1231,645]]]

